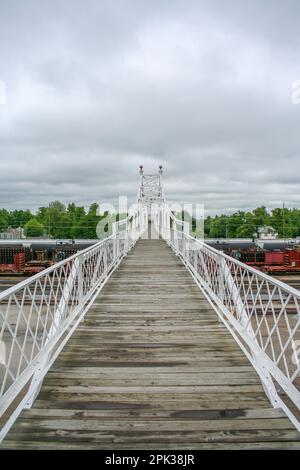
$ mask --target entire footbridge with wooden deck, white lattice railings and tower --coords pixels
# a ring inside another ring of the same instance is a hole
[[[300,291],[140,168],[112,235],[0,294],[3,449],[300,449]]]

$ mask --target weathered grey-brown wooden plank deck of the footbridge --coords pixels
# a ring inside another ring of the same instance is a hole
[[[300,449],[189,273],[139,241],[2,444],[18,449]]]

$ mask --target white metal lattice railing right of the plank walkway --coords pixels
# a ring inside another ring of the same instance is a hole
[[[300,291],[193,238],[168,216],[162,237],[257,370],[273,406],[300,431]]]

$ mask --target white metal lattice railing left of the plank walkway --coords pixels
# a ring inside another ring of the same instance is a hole
[[[18,401],[0,442],[31,406],[51,364],[144,230],[143,220],[137,211],[117,222],[110,237],[0,293],[0,418]]]

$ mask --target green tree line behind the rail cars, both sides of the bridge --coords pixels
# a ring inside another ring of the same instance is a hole
[[[22,227],[27,237],[96,238],[97,225],[107,216],[99,215],[97,203],[85,209],[74,203],[64,205],[53,201],[46,207],[40,207],[36,213],[0,209],[0,232]],[[117,215],[117,220],[119,217]],[[300,209],[275,208],[268,211],[262,206],[252,211],[239,210],[233,214],[207,216],[204,234],[206,238],[253,238],[258,227],[265,225],[273,227],[279,237],[300,236]],[[192,226],[196,227],[195,220],[192,220]]]

